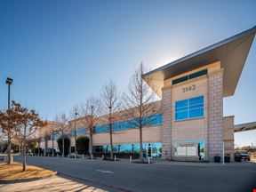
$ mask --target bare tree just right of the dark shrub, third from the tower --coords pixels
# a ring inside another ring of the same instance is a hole
[[[82,124],[89,132],[90,137],[90,146],[89,146],[89,153],[92,156],[92,135],[94,132],[94,128],[100,122],[100,100],[96,99],[95,97],[91,96],[86,100],[85,104],[81,104],[79,109],[79,116],[81,119]]]

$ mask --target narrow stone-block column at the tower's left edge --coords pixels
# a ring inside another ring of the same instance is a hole
[[[162,158],[171,159],[172,156],[172,129],[171,129],[171,115],[172,115],[172,91],[171,85],[162,89]]]

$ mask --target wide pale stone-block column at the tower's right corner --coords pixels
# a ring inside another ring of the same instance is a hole
[[[209,74],[208,84],[208,137],[209,161],[222,156],[223,150],[223,69]],[[222,157],[221,157],[222,161]]]

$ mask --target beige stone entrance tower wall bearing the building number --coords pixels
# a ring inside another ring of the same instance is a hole
[[[207,75],[198,76],[180,84],[172,85],[172,80],[188,76],[205,68],[208,69]],[[204,143],[204,160],[212,162],[214,156],[222,156],[223,141],[225,141],[223,140],[222,84],[223,69],[220,68],[220,61],[164,81],[164,88],[162,89],[162,145],[164,159],[198,161],[197,155],[179,156],[176,151],[177,144],[191,144],[197,141],[198,143]],[[186,120],[175,120],[175,102],[198,96],[204,96],[204,116]],[[228,120],[229,118],[225,119],[225,122]],[[229,127],[228,131],[225,132],[228,138],[225,142],[227,142],[226,145],[229,150],[225,151],[225,153],[232,156],[234,148],[234,122],[232,123],[229,120],[225,125]]]

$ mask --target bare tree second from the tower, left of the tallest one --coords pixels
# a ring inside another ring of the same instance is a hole
[[[118,110],[120,110],[120,99],[117,93],[116,84],[112,79],[108,80],[101,92],[101,105],[104,114],[107,116],[108,130],[110,136],[110,158],[113,158],[113,140],[112,140],[112,127],[113,123],[117,121],[120,116]]]

